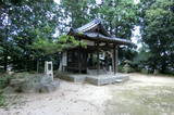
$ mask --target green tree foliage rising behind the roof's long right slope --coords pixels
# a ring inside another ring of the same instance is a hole
[[[130,39],[132,29],[138,21],[136,9],[134,0],[105,0],[94,9],[94,15],[104,20],[104,26],[111,35]]]

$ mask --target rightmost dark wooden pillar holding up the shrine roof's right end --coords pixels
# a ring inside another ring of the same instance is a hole
[[[113,72],[117,73],[117,46],[113,46]]]

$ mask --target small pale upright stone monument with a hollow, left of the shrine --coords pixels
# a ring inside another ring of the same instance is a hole
[[[52,67],[52,62],[45,62],[45,74],[48,75],[51,80],[53,81],[53,67]]]

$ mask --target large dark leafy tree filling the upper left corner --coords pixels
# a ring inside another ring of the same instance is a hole
[[[39,38],[53,39],[59,23],[59,12],[53,0],[1,1],[0,40],[4,71],[12,63],[17,68],[29,69],[34,65],[36,51],[30,44]],[[9,59],[12,62],[9,62]]]

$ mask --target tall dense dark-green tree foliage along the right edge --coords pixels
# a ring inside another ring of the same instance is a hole
[[[141,33],[142,42],[148,46],[148,52],[151,53],[150,58],[147,58],[148,65],[153,71],[171,73],[174,69],[174,2],[157,0],[145,4]]]

